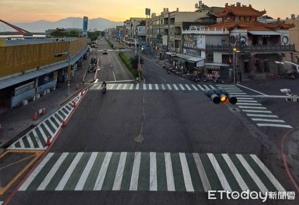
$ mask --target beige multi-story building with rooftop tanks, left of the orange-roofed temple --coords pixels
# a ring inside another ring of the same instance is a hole
[[[208,7],[199,1],[195,11],[169,11],[164,8],[160,15],[151,14],[147,19],[147,41],[149,45],[158,46],[160,58],[168,58],[173,53],[182,52],[182,30],[193,26],[206,26],[216,23],[213,12],[220,11],[219,7]],[[167,53],[165,53],[168,51]],[[171,52],[170,52],[171,51]],[[163,55],[165,53],[166,55]]]

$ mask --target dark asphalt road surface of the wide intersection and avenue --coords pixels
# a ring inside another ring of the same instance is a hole
[[[100,42],[99,50],[111,50]],[[99,55],[98,82],[110,82],[107,92],[100,83],[88,90],[10,204],[263,204],[219,195],[209,200],[207,192],[296,192],[279,144],[298,124],[294,114],[246,98],[257,93],[244,87],[169,75],[150,56],[145,84],[137,84],[118,51]],[[217,87],[236,93],[242,104],[213,104],[203,90]],[[254,120],[262,115],[268,121]],[[298,203],[296,196],[264,204]]]

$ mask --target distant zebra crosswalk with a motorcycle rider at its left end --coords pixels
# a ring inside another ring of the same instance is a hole
[[[90,90],[101,90],[102,84],[93,85]],[[107,84],[107,90],[149,90],[149,91],[204,91],[214,89],[212,85],[199,84]]]

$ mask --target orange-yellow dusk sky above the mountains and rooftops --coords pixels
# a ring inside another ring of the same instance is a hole
[[[11,23],[33,22],[37,20],[56,21],[66,17],[89,19],[102,17],[112,21],[124,21],[130,17],[146,17],[145,8],[160,13],[164,7],[169,11],[194,11],[195,0],[0,0],[0,19]],[[208,6],[224,6],[236,0],[203,0]],[[277,18],[299,15],[299,0],[242,0],[255,9],[267,10],[267,14]]]

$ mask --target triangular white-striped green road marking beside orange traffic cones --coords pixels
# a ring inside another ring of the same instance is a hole
[[[13,142],[7,149],[46,149],[47,137],[50,137],[50,141],[53,140],[62,125],[62,121],[66,120],[73,111],[72,102],[75,101],[77,103],[81,98],[81,94],[77,95],[69,103],[62,106],[51,116]]]

